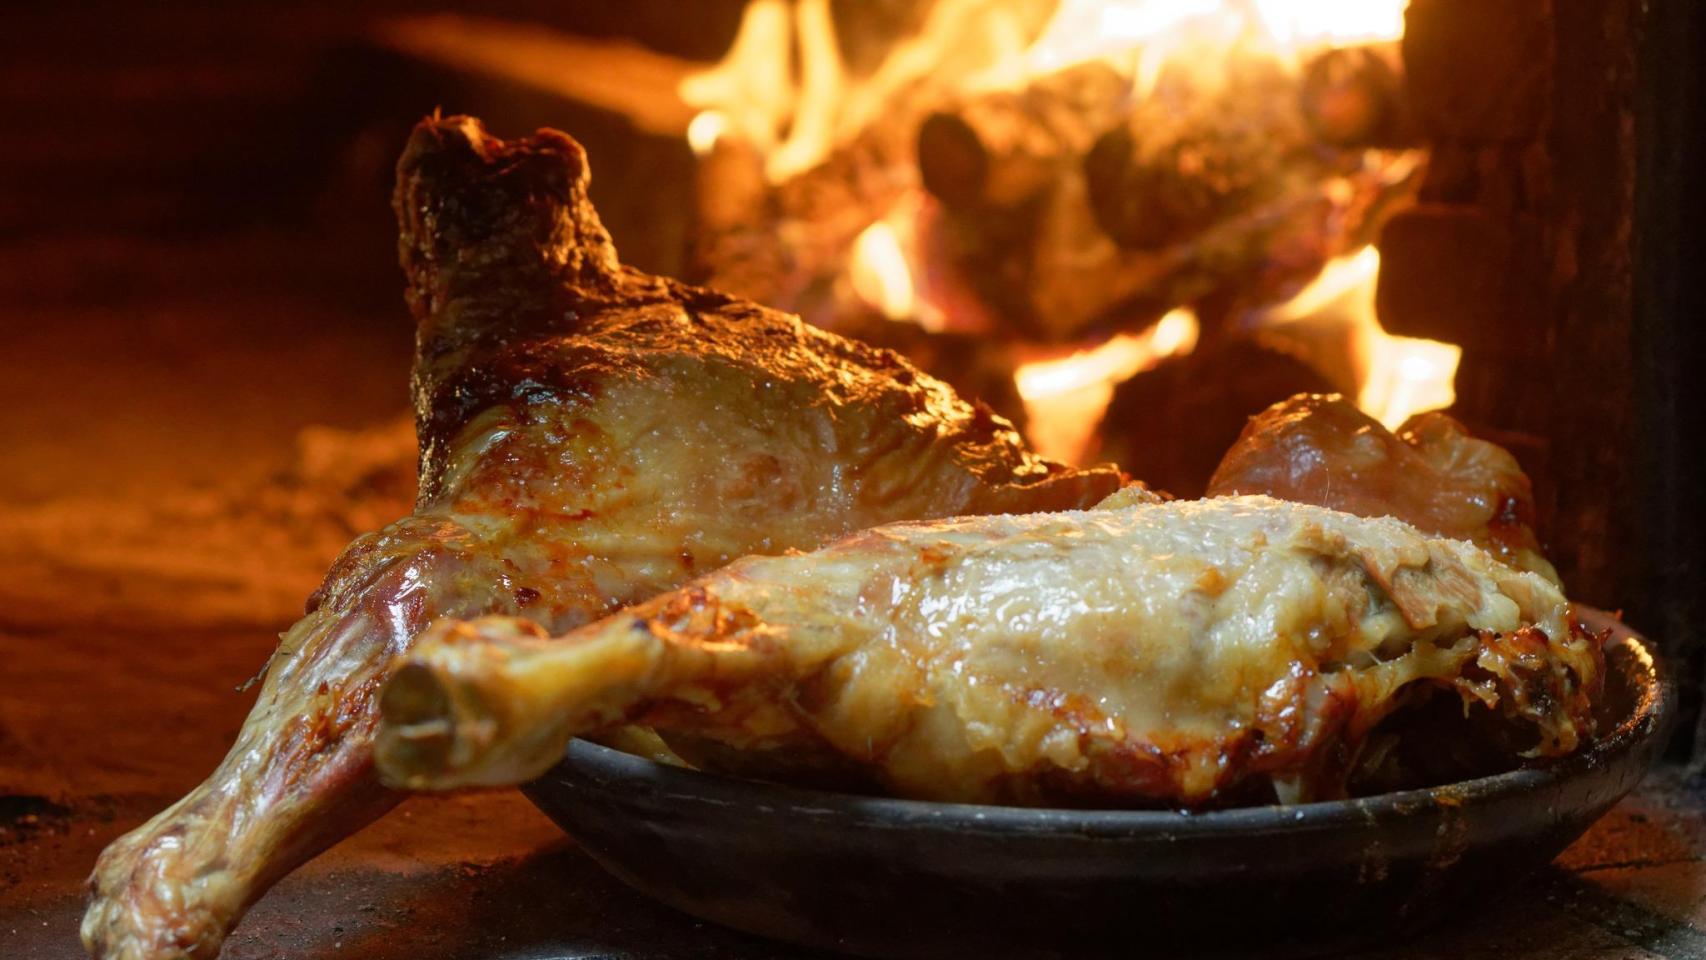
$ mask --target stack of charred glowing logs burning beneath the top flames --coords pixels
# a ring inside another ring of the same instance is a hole
[[[786,176],[766,165],[769,196],[732,205],[735,222],[701,244],[698,275],[833,329],[863,304],[930,329],[1065,344],[1181,304],[1225,302],[1215,314],[1232,315],[1283,297],[1368,242],[1382,198],[1404,193],[1397,152],[1324,140],[1385,135],[1396,94],[1380,84],[1396,73],[1378,55],[1322,58],[1312,84],[1268,53],[1213,70],[1165,63],[1141,84],[1088,60],[1020,70],[1013,89],[954,94],[938,77],[882,87],[887,107],[815,164]],[[923,220],[904,210],[920,188]],[[711,206],[718,191],[701,182]]]

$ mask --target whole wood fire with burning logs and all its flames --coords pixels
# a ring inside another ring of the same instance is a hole
[[[1068,460],[1199,338],[1256,338],[1396,425],[1450,404],[1457,363],[1373,312],[1370,244],[1421,167],[1401,36],[1399,0],[945,0],[860,70],[822,0],[754,0],[681,85],[722,171],[701,268],[833,329],[995,341],[1005,413]]]

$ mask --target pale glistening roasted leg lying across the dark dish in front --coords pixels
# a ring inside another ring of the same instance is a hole
[[[1399,520],[1116,494],[747,558],[554,639],[440,622],[384,692],[379,767],[520,783],[640,721],[749,757],[815,743],[930,800],[1329,798],[1428,694],[1573,750],[1599,643],[1546,578]]]

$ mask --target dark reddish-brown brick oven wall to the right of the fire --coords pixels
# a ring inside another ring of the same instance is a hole
[[[1387,329],[1464,346],[1454,413],[1535,479],[1575,597],[1639,588],[1631,230],[1636,0],[1411,0],[1404,61],[1431,148],[1380,237]]]

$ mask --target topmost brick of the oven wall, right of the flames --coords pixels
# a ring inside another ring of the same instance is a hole
[[[1411,0],[1404,73],[1425,135],[1534,140],[1551,97],[1552,3]]]

